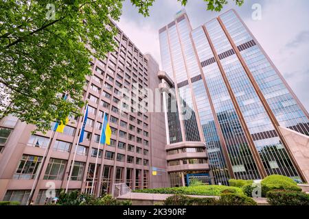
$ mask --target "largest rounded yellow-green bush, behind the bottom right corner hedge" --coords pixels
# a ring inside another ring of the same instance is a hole
[[[301,192],[301,188],[293,179],[282,175],[271,175],[265,177],[262,182],[262,196],[265,197],[268,191],[271,190],[290,190]]]

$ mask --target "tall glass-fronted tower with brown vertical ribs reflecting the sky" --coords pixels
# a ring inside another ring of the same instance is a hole
[[[286,133],[308,136],[308,112],[234,10],[196,29],[179,12],[159,29],[159,40],[172,185],[175,175],[187,184],[187,175],[207,172],[200,165],[207,157],[212,183],[273,174],[309,180]]]

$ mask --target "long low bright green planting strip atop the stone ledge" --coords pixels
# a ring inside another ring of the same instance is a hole
[[[192,194],[201,196],[220,196],[224,190],[233,190],[237,194],[244,194],[241,188],[226,185],[198,185],[177,188],[156,188],[146,190],[135,190],[133,192],[154,193],[154,194]]]

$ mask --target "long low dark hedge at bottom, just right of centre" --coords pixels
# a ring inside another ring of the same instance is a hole
[[[193,198],[175,194],[166,198],[163,205],[216,205],[216,198]]]

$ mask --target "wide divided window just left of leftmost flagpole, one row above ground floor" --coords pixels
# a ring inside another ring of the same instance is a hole
[[[36,171],[41,165],[42,157],[33,155],[23,155],[19,166],[13,176],[14,179],[34,179]]]

